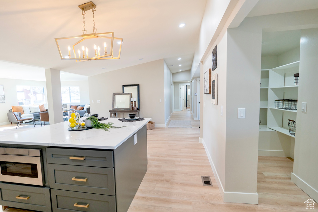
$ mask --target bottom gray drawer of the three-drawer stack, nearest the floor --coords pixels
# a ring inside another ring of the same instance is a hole
[[[115,212],[115,196],[51,189],[53,212]]]

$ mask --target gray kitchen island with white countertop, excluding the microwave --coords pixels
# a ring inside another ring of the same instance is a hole
[[[38,211],[127,211],[147,171],[150,120],[109,118],[102,122],[126,126],[109,132],[68,131],[63,122],[2,136],[3,149],[42,151],[45,182],[43,186],[1,182],[0,204]]]

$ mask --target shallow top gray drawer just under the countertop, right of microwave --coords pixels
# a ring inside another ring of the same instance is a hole
[[[46,148],[48,163],[113,168],[113,151]]]

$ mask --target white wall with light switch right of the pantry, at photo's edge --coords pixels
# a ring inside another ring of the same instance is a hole
[[[291,177],[315,202],[318,201],[317,46],[318,28],[301,30],[294,170]],[[301,112],[301,102],[307,102],[307,112]]]

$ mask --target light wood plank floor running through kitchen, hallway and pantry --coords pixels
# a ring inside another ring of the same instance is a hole
[[[170,120],[191,120],[192,128],[168,128]],[[258,205],[223,202],[204,147],[198,143],[199,121],[187,110],[174,112],[170,120],[165,128],[147,130],[148,171],[128,212],[306,211],[309,196],[290,181],[293,161],[286,157],[258,157]],[[27,127],[34,128],[18,129]],[[211,177],[213,187],[202,185],[204,175]]]

